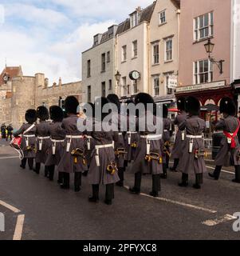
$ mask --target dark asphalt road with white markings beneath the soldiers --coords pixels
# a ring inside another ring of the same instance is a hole
[[[158,199],[148,197],[151,176],[145,176],[143,194],[116,187],[113,205],[106,206],[104,187],[100,202],[91,204],[86,178],[80,193],[73,188],[60,190],[57,182],[44,178],[43,170],[40,176],[22,170],[14,150],[2,144],[6,142],[0,143],[0,212],[5,214],[5,232],[0,232],[0,240],[240,238],[232,227],[233,214],[240,212],[240,185],[231,182],[234,174],[222,173],[218,182],[206,174],[203,189],[194,190],[177,186],[181,174],[170,173]],[[132,174],[126,174],[125,184],[132,186]]]

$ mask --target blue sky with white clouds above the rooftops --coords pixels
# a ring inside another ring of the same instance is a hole
[[[0,0],[0,72],[22,66],[49,82],[81,80],[81,52],[93,35],[153,0]]]

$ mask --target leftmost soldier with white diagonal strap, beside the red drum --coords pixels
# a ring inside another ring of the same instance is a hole
[[[37,112],[36,110],[27,110],[25,114],[26,124],[23,124],[19,130],[14,132],[14,137],[22,135],[21,149],[24,154],[21,167],[26,168],[28,161],[30,170],[33,170],[33,159],[35,158],[35,143],[36,143],[36,125]]]

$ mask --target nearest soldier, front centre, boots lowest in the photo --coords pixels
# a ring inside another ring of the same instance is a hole
[[[92,185],[92,196],[89,202],[99,202],[99,186],[106,186],[105,200],[107,205],[112,205],[114,198],[114,184],[120,181],[116,166],[116,155],[114,144],[118,142],[118,133],[116,131],[106,131],[104,127],[108,126],[103,122],[107,114],[104,113],[103,107],[108,104],[107,98],[98,98],[95,102],[95,108],[100,109],[100,116],[95,113],[93,131],[89,134],[94,140],[95,146],[92,150],[92,156],[89,166],[88,180]],[[96,127],[100,126],[100,131]]]

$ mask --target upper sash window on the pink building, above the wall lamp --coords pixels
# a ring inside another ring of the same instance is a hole
[[[204,38],[213,36],[214,34],[214,13],[201,15],[194,19],[194,39],[199,41]]]

